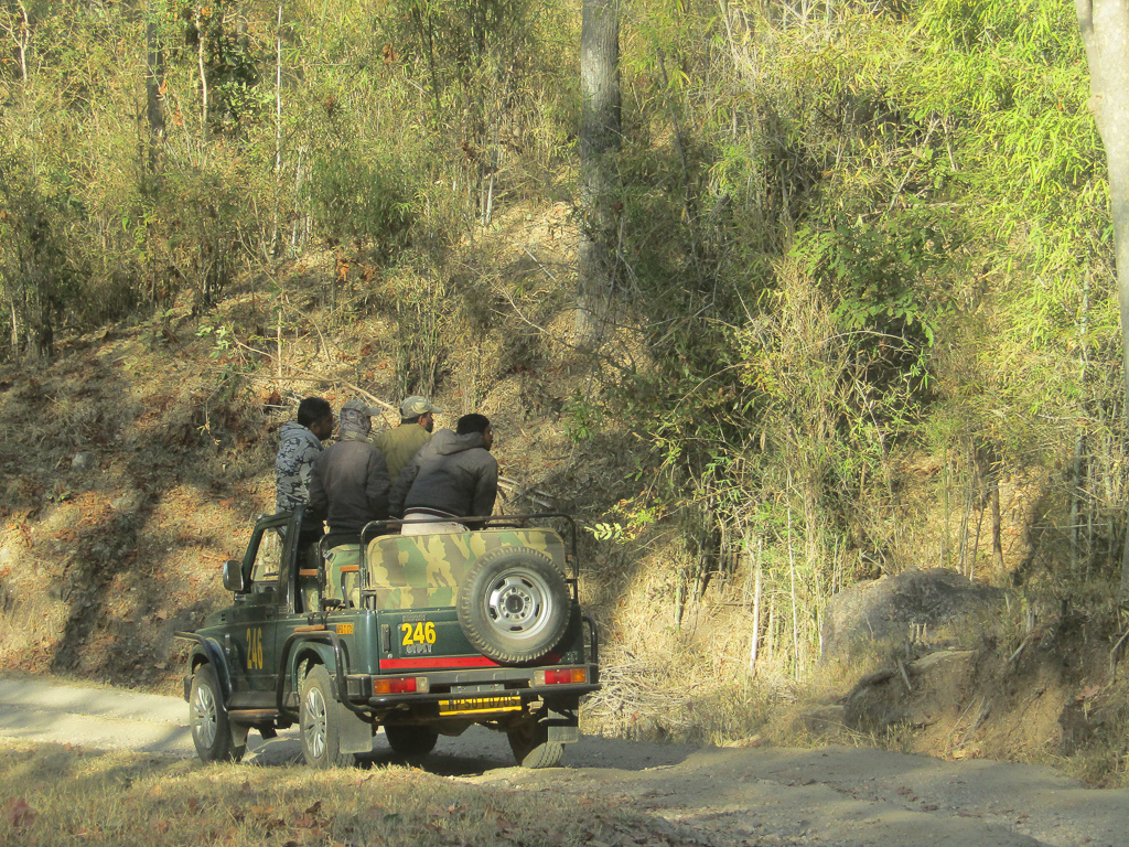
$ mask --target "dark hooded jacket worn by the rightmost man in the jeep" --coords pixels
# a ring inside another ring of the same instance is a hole
[[[401,472],[388,510],[400,517],[411,510],[445,518],[488,516],[497,497],[498,461],[482,446],[482,434],[440,429]]]

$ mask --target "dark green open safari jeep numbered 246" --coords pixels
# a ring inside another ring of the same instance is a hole
[[[243,560],[224,565],[233,604],[176,634],[194,643],[184,697],[201,760],[238,761],[250,730],[270,739],[295,723],[318,768],[370,753],[377,726],[414,760],[482,724],[527,768],[579,740],[580,698],[599,684],[571,518],[388,534],[400,525],[338,543],[300,534],[301,509],[255,524]]]

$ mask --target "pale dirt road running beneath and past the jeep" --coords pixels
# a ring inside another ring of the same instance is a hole
[[[0,680],[0,735],[191,756],[183,700]],[[254,736],[254,733],[252,734]],[[383,739],[377,763],[394,761]],[[248,759],[301,759],[294,732]],[[511,767],[504,736],[440,739],[427,769],[472,784],[568,792],[665,820],[686,842],[826,847],[1124,847],[1129,791],[1089,791],[1048,768],[877,750],[717,749],[585,737],[564,767]]]

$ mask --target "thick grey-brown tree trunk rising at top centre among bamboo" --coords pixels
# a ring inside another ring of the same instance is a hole
[[[580,20],[580,207],[584,226],[577,256],[576,338],[598,343],[615,282],[620,149],[619,0],[584,0]]]

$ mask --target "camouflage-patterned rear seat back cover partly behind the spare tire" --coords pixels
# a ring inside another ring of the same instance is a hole
[[[382,535],[368,543],[366,587],[376,592],[379,610],[452,606],[471,564],[504,547],[540,550],[566,573],[564,542],[552,530]]]

